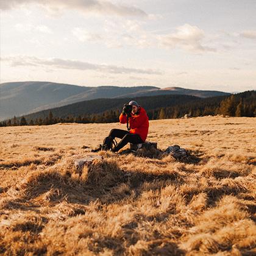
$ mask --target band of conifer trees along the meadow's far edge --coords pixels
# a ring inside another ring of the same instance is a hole
[[[221,99],[221,100],[220,100]],[[191,117],[205,115],[224,116],[256,116],[256,91],[232,94],[226,98],[205,98],[193,102],[160,107],[147,110],[149,119],[182,118],[184,115]],[[57,123],[116,123],[120,110],[107,110],[103,113],[90,115],[68,115],[66,117],[54,116],[50,111],[45,118],[26,119],[24,116],[0,122],[0,126],[41,126]]]

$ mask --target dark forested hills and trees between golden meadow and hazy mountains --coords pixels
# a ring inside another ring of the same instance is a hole
[[[0,126],[49,125],[56,123],[115,123],[123,104],[130,99],[94,99],[2,121]],[[205,115],[256,116],[256,91],[231,96],[197,98],[187,95],[161,95],[135,98],[149,119]]]

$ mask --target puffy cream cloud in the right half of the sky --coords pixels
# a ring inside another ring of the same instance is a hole
[[[177,27],[175,33],[160,35],[158,40],[163,48],[182,48],[190,52],[215,52],[216,49],[204,46],[204,30],[185,24]]]

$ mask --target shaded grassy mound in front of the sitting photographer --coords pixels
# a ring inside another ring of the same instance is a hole
[[[182,184],[184,179],[176,171],[163,174],[123,171],[116,162],[98,160],[77,174],[75,169],[34,172],[24,183],[17,185],[17,199],[5,203],[5,208],[37,210],[39,205],[54,205],[66,201],[87,205],[91,201],[104,204],[121,201],[126,197],[138,197],[144,183],[152,183],[152,190],[160,190],[163,184]],[[125,187],[123,189],[122,187]],[[135,193],[131,194],[133,190]]]

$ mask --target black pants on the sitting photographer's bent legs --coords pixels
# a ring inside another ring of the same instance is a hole
[[[140,135],[130,133],[127,130],[112,129],[112,130],[110,130],[110,133],[108,136],[111,136],[112,138],[121,138],[122,139],[116,145],[115,152],[118,152],[121,148],[126,146],[127,143],[132,143],[132,144],[144,143],[144,141],[141,140]]]

